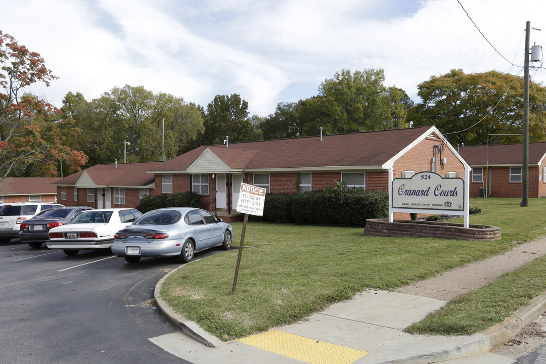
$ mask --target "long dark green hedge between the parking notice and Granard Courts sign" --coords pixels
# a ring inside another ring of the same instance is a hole
[[[366,225],[366,219],[387,218],[389,195],[379,190],[328,188],[301,194],[268,194],[264,216],[251,220],[302,225]]]

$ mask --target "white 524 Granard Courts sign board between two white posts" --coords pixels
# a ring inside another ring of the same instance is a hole
[[[435,172],[419,172],[411,178],[393,180],[393,208],[465,210],[465,181],[442,178]]]

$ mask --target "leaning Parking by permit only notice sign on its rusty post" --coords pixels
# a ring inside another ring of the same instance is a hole
[[[235,210],[245,214],[245,220],[242,223],[241,243],[239,244],[239,255],[237,257],[237,266],[235,267],[235,277],[233,278],[232,293],[235,293],[237,287],[237,278],[239,277],[239,267],[241,265],[242,248],[245,244],[246,224],[248,215],[263,216],[265,202],[265,188],[252,186],[252,184],[241,183],[239,191],[239,200]]]

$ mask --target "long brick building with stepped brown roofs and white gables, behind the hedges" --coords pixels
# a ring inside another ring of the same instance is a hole
[[[390,168],[395,177],[421,171],[464,177],[464,166],[432,126],[201,146],[167,162],[96,165],[56,186],[60,203],[96,208],[135,207],[144,194],[193,190],[201,208],[229,220],[238,216],[241,182],[269,193],[303,193],[337,182],[387,191]]]

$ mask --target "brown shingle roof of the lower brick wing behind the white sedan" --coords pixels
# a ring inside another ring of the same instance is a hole
[[[85,172],[91,177],[96,186],[148,186],[155,181],[153,174],[146,172],[158,169],[163,162],[139,162],[139,163],[118,163],[97,164],[87,168]],[[78,172],[58,181],[58,185],[74,186],[81,174]]]

